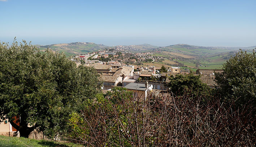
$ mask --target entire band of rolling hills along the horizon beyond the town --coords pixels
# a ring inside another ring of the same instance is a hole
[[[165,47],[153,46],[150,44],[142,45],[118,45],[118,46],[105,46],[103,44],[96,44],[92,42],[73,42],[73,43],[61,43],[40,46],[40,50],[47,48],[54,51],[64,52],[67,56],[86,54],[88,52],[98,51],[101,49],[112,49],[113,51],[121,52],[148,52],[155,51],[152,56],[159,56],[164,60],[160,62],[145,63],[155,65],[166,66],[180,66],[186,70],[192,69],[220,69],[222,64],[225,63],[230,56],[234,55],[238,49],[248,50],[251,52],[256,46],[251,47],[205,47],[194,46],[187,44],[176,44]]]

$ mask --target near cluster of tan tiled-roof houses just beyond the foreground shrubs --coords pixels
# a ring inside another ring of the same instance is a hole
[[[139,97],[147,97],[148,91],[164,90],[166,91],[166,83],[169,82],[170,75],[187,74],[182,73],[181,68],[171,67],[166,73],[160,73],[155,66],[139,68],[134,72],[134,66],[121,64],[100,64],[93,63],[91,65],[100,74],[100,80],[103,81],[103,89],[111,90],[116,86],[125,87],[129,91],[137,91],[134,95]],[[198,69],[197,74],[201,74],[201,80],[208,86],[214,88],[214,72],[223,72],[223,70]]]

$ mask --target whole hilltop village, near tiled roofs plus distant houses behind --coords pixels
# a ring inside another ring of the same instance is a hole
[[[71,60],[77,65],[92,66],[100,74],[104,90],[110,90],[116,86],[125,87],[131,91],[141,91],[140,95],[147,96],[147,91],[168,90],[165,84],[169,82],[169,76],[188,74],[178,66],[165,68],[143,66],[143,62],[158,62],[163,60],[159,56],[151,56],[155,52],[130,53],[119,48],[104,49],[87,54],[77,55]],[[222,72],[221,69],[198,69],[196,74],[201,74],[201,80],[214,88],[214,72]]]

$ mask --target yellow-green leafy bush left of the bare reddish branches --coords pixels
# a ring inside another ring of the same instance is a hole
[[[133,105],[133,93],[125,88],[114,87],[105,95],[97,95],[97,102],[85,107],[81,114],[70,115],[68,138],[89,146],[104,146],[102,142],[106,137],[105,144],[115,146],[119,143],[116,137],[123,132],[122,128],[129,127],[126,116],[134,111],[129,105]],[[127,144],[123,142],[123,146]]]

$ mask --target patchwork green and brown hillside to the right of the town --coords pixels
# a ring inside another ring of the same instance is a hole
[[[252,47],[204,47],[187,44],[159,47],[152,56],[164,58],[161,62],[145,63],[161,66],[180,66],[183,70],[221,69],[222,65],[239,50],[252,52]]]

